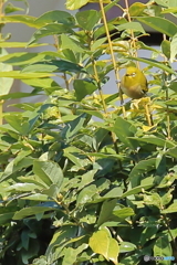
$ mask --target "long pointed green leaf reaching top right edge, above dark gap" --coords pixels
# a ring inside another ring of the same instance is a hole
[[[137,18],[137,20],[168,36],[174,36],[177,32],[177,25],[164,18],[143,17],[143,18]]]

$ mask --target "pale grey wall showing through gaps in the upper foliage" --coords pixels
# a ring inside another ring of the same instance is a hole
[[[147,2],[147,1],[146,1]],[[42,13],[46,12],[46,11],[51,11],[51,10],[64,10],[67,11],[65,9],[65,0],[29,0],[29,4],[30,4],[30,15],[33,17],[39,17]],[[22,2],[19,2],[19,6],[21,6],[22,8],[24,7]],[[69,11],[67,11],[69,12]],[[72,11],[72,13],[75,13],[76,11]],[[23,42],[28,42],[31,39],[31,35],[33,34],[33,32],[35,31],[35,29],[29,28],[27,25],[23,24],[18,24],[18,23],[10,23],[8,25],[4,26],[4,31],[6,33],[11,32],[12,33],[12,38],[10,41],[23,41]],[[46,42],[51,43],[53,42],[53,40],[50,40],[50,38],[45,38],[43,39]],[[50,47],[51,50],[52,46]],[[157,46],[156,46],[157,49]],[[42,52],[48,50],[49,51],[49,46],[43,46],[43,47],[37,47],[37,49],[23,49],[21,51],[33,51],[33,52]],[[10,50],[9,52],[15,52],[17,50]],[[18,49],[18,51],[20,51]],[[139,56],[144,56],[144,57],[149,57],[150,56],[150,52],[148,51],[140,51],[139,52]],[[144,67],[145,65],[142,64],[142,67]],[[155,70],[156,71],[156,70]],[[123,72],[121,72],[122,74]],[[110,81],[108,83],[104,86],[103,91],[106,94],[111,94],[111,93],[116,93],[117,92],[117,86],[115,83],[115,76],[114,73],[110,73]],[[62,83],[61,83],[62,85]],[[14,81],[13,87],[12,87],[12,92],[30,92],[30,86],[20,83],[19,81]],[[30,100],[42,100],[43,97],[41,96],[39,97],[32,97],[32,98],[25,98],[23,100],[25,102],[30,102]],[[15,100],[17,102],[17,100]]]

